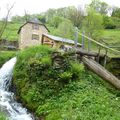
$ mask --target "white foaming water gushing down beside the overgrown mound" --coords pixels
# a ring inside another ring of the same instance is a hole
[[[9,92],[16,57],[6,62],[0,69],[0,109],[5,111],[9,120],[34,120],[33,116],[17,103],[14,93]]]

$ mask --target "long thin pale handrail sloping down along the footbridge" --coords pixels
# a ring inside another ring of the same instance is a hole
[[[116,52],[116,53],[119,53],[119,54],[120,54],[120,51],[118,51],[118,50],[115,50],[115,49],[112,49],[112,48],[110,48],[110,47],[108,47],[108,46],[106,46],[106,45],[103,45],[103,44],[101,44],[100,42],[97,42],[97,41],[95,41],[94,39],[92,39],[92,38],[90,38],[90,37],[88,37],[88,36],[86,36],[86,35],[83,35],[83,34],[80,33],[80,32],[78,32],[78,34],[81,35],[81,36],[84,36],[84,37],[87,38],[88,40],[96,43],[97,45],[99,45],[99,46],[101,46],[101,47],[103,47],[103,48],[106,48],[106,49],[108,49],[108,50],[111,50],[111,51],[113,51],[113,52]]]

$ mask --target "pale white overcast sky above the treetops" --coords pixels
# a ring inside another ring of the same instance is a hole
[[[45,12],[49,8],[60,8],[67,6],[84,6],[89,4],[91,0],[0,0],[0,18],[5,17],[7,7],[14,4],[11,16]],[[102,0],[109,5],[120,7],[120,0]]]

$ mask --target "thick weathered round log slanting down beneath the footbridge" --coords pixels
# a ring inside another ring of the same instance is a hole
[[[99,75],[101,78],[111,83],[117,89],[120,89],[120,80],[116,78],[113,74],[107,71],[103,66],[98,64],[92,59],[88,59],[87,57],[82,57],[83,63],[91,69],[94,73]]]

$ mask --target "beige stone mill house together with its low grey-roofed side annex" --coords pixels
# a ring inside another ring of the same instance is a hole
[[[49,47],[71,48],[75,42],[70,39],[61,38],[49,34],[48,28],[38,19],[33,19],[23,24],[19,30],[19,49],[34,45],[48,45]],[[78,47],[81,44],[77,43]]]

